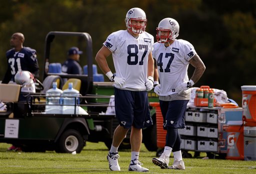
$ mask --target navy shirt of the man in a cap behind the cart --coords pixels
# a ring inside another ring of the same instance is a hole
[[[80,64],[73,60],[68,58],[61,67],[61,71],[69,74],[82,74],[82,68]]]

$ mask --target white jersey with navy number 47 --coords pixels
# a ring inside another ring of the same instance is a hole
[[[161,96],[175,92],[179,83],[188,81],[187,68],[189,60],[196,54],[191,43],[183,39],[175,39],[165,47],[164,43],[153,44],[152,55],[156,59]]]

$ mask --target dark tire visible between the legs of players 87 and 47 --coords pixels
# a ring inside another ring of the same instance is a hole
[[[144,145],[148,151],[156,151],[157,150],[157,143],[156,143],[156,124],[145,128],[142,130]]]

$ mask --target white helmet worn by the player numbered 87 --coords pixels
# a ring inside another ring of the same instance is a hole
[[[131,21],[132,20],[137,20],[137,21],[142,21],[142,24],[137,26],[137,25],[132,25]],[[126,17],[125,17],[125,24],[126,27],[133,33],[139,34],[144,32],[146,28],[146,14],[145,12],[140,9],[140,8],[131,8],[128,10]]]

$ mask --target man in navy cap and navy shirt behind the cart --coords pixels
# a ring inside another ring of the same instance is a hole
[[[82,51],[79,51],[77,47],[70,47],[68,50],[68,58],[62,64],[61,71],[68,74],[82,74],[82,68],[78,63],[79,57]]]

